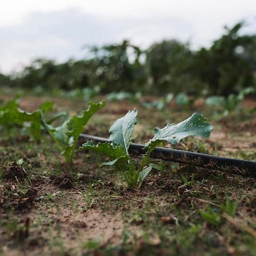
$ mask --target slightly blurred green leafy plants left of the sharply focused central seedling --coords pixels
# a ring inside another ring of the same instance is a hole
[[[19,108],[19,99],[16,97],[0,106],[0,126],[7,128],[21,126],[35,141],[39,141],[42,128],[44,128],[60,148],[65,161],[70,164],[80,133],[84,130],[90,117],[104,106],[105,102],[98,104],[90,102],[89,108],[81,114],[68,117],[67,113],[59,112],[46,119],[46,114],[53,109],[53,102],[44,102],[40,105],[39,110],[29,113]],[[52,123],[59,118],[64,118],[64,122],[60,126],[53,127]]]

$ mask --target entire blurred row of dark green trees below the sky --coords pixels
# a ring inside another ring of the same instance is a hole
[[[243,23],[225,27],[209,48],[193,51],[188,43],[164,40],[146,50],[127,40],[90,47],[87,57],[57,64],[37,59],[21,72],[0,74],[0,84],[22,88],[90,90],[101,93],[188,93],[228,96],[256,86],[256,35],[241,35]],[[54,85],[54,86],[52,86]]]

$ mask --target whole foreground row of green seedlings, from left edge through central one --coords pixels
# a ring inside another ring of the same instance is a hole
[[[89,108],[80,115],[68,117],[65,112],[49,115],[53,109],[53,103],[47,101],[40,105],[39,110],[28,113],[19,108],[19,100],[16,97],[0,106],[0,125],[7,128],[21,126],[27,129],[35,141],[40,139],[42,129],[46,130],[56,142],[65,161],[71,164],[79,135],[90,117],[104,106],[105,102],[98,104],[90,102]],[[150,163],[150,154],[163,141],[178,144],[181,139],[190,135],[209,137],[210,131],[213,129],[207,119],[198,113],[194,113],[176,125],[167,124],[163,129],[155,128],[154,137],[145,144],[146,154],[142,155],[141,162],[138,163],[129,155],[131,134],[137,123],[137,115],[138,111],[134,109],[124,117],[117,119],[109,129],[109,142],[95,145],[92,141],[88,141],[80,147],[80,150],[92,150],[107,155],[110,162],[104,163],[104,165],[115,166],[118,171],[122,172],[127,186],[130,188],[140,185],[152,168],[160,170],[160,165]],[[64,122],[59,126],[53,126],[53,122],[60,122],[60,118],[64,119]]]

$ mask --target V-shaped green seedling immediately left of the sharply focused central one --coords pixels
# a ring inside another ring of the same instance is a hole
[[[90,117],[97,112],[100,108],[105,106],[105,102],[94,104],[89,102],[89,108],[85,110],[82,115],[74,115],[69,118],[59,127],[53,127],[48,125],[42,118],[43,127],[51,134],[52,138],[55,139],[57,145],[61,150],[67,163],[71,163],[73,159],[73,153],[75,151],[77,139],[80,133],[84,130],[86,123]]]

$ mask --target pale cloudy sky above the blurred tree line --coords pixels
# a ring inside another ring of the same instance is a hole
[[[163,39],[209,47],[245,20],[256,34],[255,0],[8,0],[0,8],[0,72],[38,57],[56,61],[86,56],[84,46],[123,39],[143,48]]]

